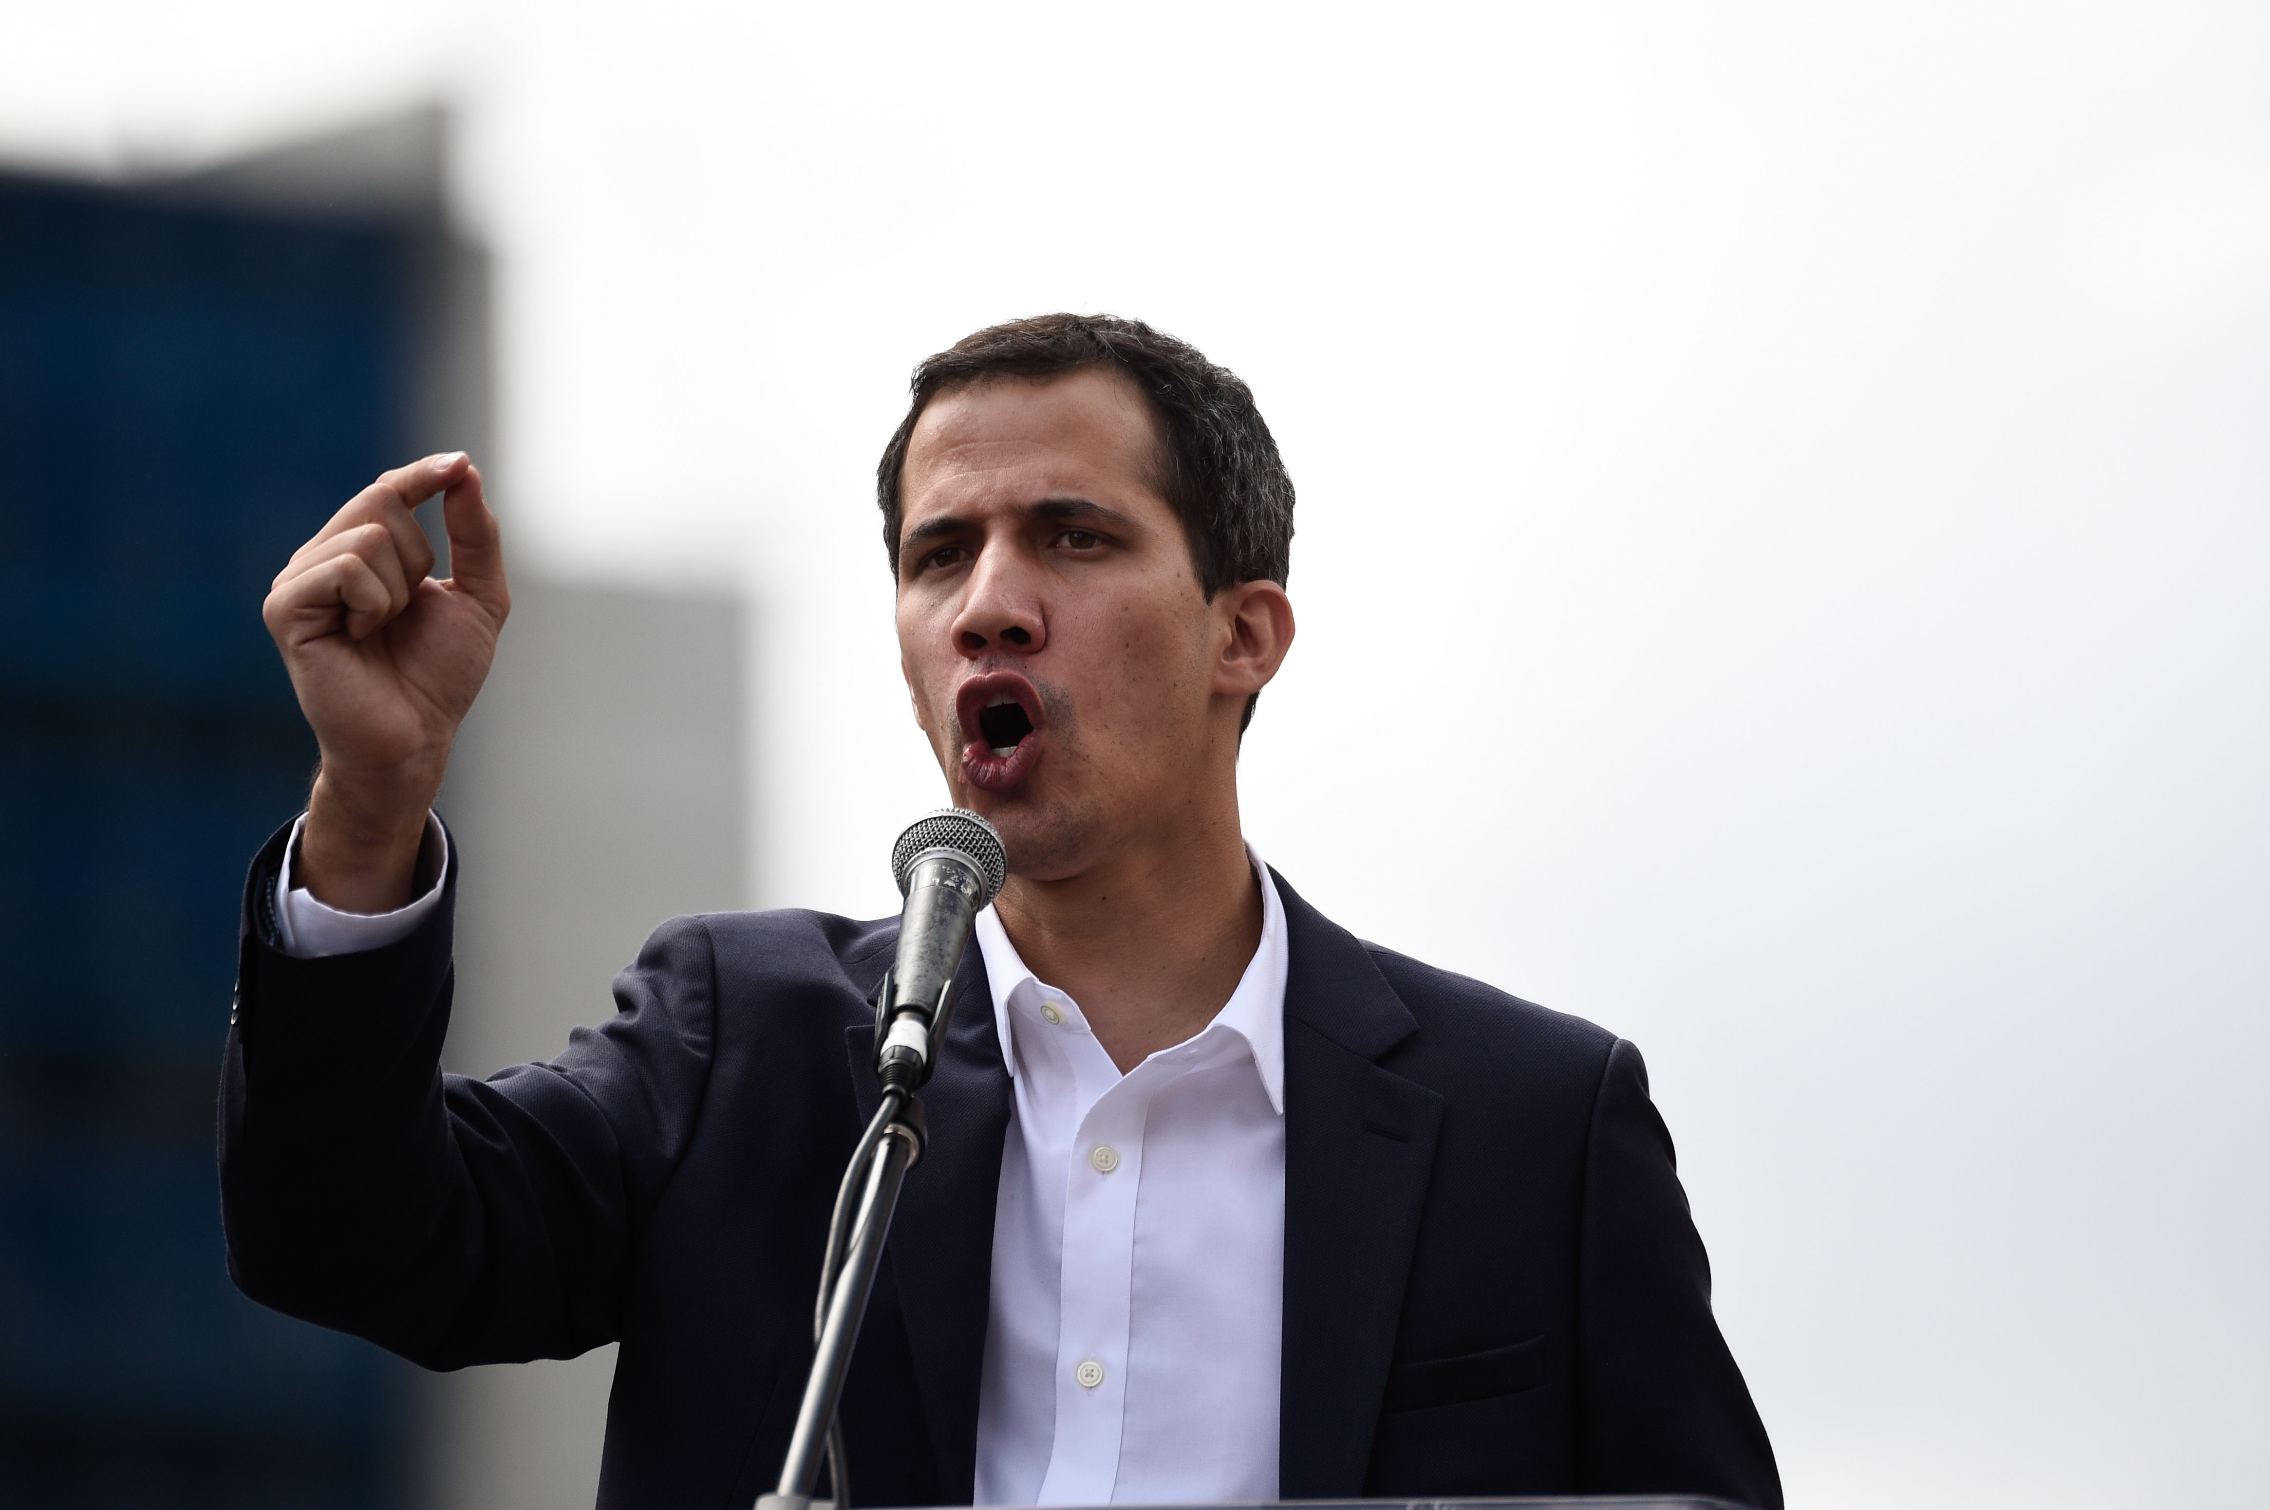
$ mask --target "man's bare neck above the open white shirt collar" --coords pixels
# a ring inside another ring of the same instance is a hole
[[[1119,1072],[1221,1011],[1262,939],[1262,891],[1235,787],[1196,823],[1112,846],[1065,880],[1010,877],[994,900],[1033,975],[1081,1004]]]

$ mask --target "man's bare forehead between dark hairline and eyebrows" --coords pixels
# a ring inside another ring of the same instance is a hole
[[[901,528],[942,510],[1094,499],[1167,508],[1151,406],[1110,370],[987,379],[940,395],[906,447]]]

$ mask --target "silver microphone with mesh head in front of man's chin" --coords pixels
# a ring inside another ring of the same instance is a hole
[[[899,957],[874,1002],[874,1070],[885,1088],[915,1091],[938,1059],[953,1020],[953,973],[969,930],[1008,880],[1008,848],[994,825],[967,807],[915,818],[890,846],[899,911]]]

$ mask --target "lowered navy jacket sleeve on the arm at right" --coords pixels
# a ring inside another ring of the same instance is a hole
[[[1709,1256],[1639,1050],[1607,1057],[1584,1159],[1578,1465],[1587,1494],[1782,1508],[1773,1444],[1709,1308]]]

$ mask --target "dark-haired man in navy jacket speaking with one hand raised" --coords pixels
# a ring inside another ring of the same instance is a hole
[[[851,1499],[1777,1510],[1639,1052],[1357,941],[1242,837],[1294,637],[1246,385],[1130,320],[978,331],[917,367],[878,499],[915,721],[1010,880],[854,1354]],[[676,918],[556,1061],[443,1075],[431,805],[506,610],[463,456],[381,476],[268,596],[322,766],[245,891],[229,1270],[427,1367],[620,1340],[599,1503],[749,1505],[897,923]]]

